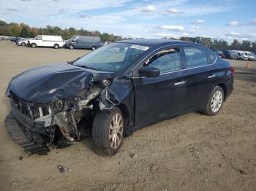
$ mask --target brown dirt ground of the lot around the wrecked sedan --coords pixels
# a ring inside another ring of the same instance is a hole
[[[24,153],[4,128],[8,82],[26,69],[86,52],[0,42],[0,190],[256,190],[253,62],[245,69],[246,61],[231,61],[235,90],[217,116],[195,112],[138,130],[114,157],[96,155],[91,139],[44,156]]]

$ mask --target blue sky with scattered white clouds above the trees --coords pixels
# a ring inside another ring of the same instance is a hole
[[[0,20],[132,38],[256,40],[256,0],[0,0]]]

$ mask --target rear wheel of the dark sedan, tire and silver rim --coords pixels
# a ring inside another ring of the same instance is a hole
[[[222,87],[216,86],[208,98],[206,106],[203,108],[202,112],[210,116],[218,114],[220,109],[222,109],[222,104],[224,101],[224,91]]]

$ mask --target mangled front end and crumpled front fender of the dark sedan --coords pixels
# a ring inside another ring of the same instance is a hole
[[[83,86],[84,89],[76,95],[69,92],[67,97],[64,94],[59,97],[54,93],[53,101],[48,104],[37,105],[33,103],[29,112],[22,114],[30,117],[33,124],[37,124],[29,128],[29,131],[36,133],[38,132],[37,129],[45,130],[48,138],[45,139],[44,145],[47,147],[50,144],[67,147],[86,136],[90,136],[92,122],[97,112],[110,112],[114,107],[120,106],[124,110],[122,111],[124,117],[127,119],[126,132],[129,133],[126,134],[131,134],[133,128],[130,127],[133,127],[134,121],[132,82],[128,77],[108,80],[110,83],[107,85],[102,83],[102,80],[88,80],[89,84]],[[10,95],[10,102],[15,106],[15,109],[24,112],[23,104],[26,103],[23,103],[22,100],[15,95]],[[12,113],[14,114],[14,112]],[[18,119],[18,117],[15,118]],[[22,125],[21,122],[20,124]],[[23,132],[25,132],[24,128]],[[37,153],[34,150],[33,152]]]

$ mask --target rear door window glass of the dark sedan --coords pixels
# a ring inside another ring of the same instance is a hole
[[[206,52],[196,47],[184,47],[187,68],[206,66],[208,64]]]

